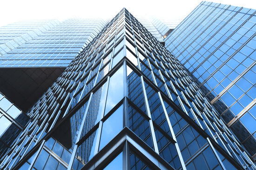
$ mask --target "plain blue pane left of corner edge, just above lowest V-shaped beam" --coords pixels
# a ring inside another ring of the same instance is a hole
[[[100,150],[123,128],[123,105],[121,105],[102,125]]]

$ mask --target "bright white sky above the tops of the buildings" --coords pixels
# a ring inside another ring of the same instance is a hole
[[[136,16],[183,19],[202,0],[1,0],[0,26],[20,20],[105,18],[123,7]],[[256,9],[256,0],[212,0]]]

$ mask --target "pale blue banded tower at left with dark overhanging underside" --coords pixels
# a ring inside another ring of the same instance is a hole
[[[68,19],[0,27],[0,92],[27,111],[105,25],[101,19]]]

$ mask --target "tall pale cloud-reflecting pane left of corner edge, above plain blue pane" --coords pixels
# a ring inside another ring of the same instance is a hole
[[[123,66],[110,78],[105,115],[123,98]]]

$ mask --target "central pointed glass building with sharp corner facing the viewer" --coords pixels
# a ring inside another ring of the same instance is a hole
[[[256,169],[202,95],[124,8],[27,112],[0,169]]]

